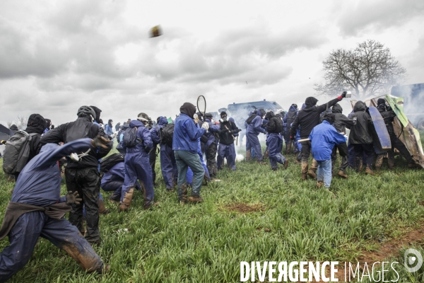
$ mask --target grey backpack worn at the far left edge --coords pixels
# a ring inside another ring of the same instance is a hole
[[[31,139],[35,135],[35,133],[28,134],[25,131],[18,131],[6,141],[3,156],[4,173],[15,174],[23,170],[30,157]]]

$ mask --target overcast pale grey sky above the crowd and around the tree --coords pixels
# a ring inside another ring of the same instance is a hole
[[[423,83],[423,20],[423,0],[5,0],[0,122],[59,125],[81,105],[114,123],[175,117],[199,95],[211,111],[264,98],[287,109],[323,82],[331,50],[367,39],[390,48],[405,83]],[[163,35],[149,38],[154,25]]]

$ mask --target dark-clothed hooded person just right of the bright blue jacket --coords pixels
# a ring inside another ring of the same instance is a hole
[[[346,134],[346,127],[348,129],[351,129],[351,127],[356,125],[356,120],[351,120],[342,114],[343,109],[338,103],[333,106],[332,112],[334,114],[333,126],[336,128],[337,132]],[[349,162],[348,162],[349,151],[348,151],[348,145],[346,144],[346,142],[343,142],[341,144],[336,144],[333,148],[333,152],[331,153],[332,175],[334,175],[336,170],[337,149],[338,149],[338,153],[341,156],[341,163],[340,163],[340,167],[338,168],[337,175],[339,175],[341,178],[346,179],[348,178],[348,175],[346,175],[346,168],[348,168],[348,165],[349,165]]]

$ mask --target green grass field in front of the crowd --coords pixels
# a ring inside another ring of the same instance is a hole
[[[302,182],[300,165],[294,156],[289,159],[286,171],[239,162],[235,173],[220,171],[220,183],[202,187],[203,204],[185,206],[177,204],[176,192],[165,191],[158,159],[157,206],[144,211],[136,192],[128,213],[107,203],[112,212],[100,216],[102,245],[95,250],[111,265],[107,275],[86,274],[40,238],[30,262],[11,282],[240,282],[240,261],[355,262],[366,250],[423,223],[423,171],[406,168],[400,156],[394,171],[384,166],[375,177],[348,171],[348,180],[334,178],[334,195],[316,189],[314,180]],[[3,171],[0,187],[3,219],[13,188]],[[110,192],[102,195],[107,199]],[[129,231],[117,232],[124,228]],[[7,238],[0,250],[6,246]],[[411,246],[424,254],[419,245]],[[387,258],[401,260],[401,250]],[[423,282],[423,274],[424,267],[401,272],[399,282]]]

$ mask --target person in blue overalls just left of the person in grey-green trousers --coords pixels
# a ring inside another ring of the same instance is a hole
[[[172,151],[172,147],[167,145],[165,141],[160,141],[160,132],[166,125],[168,125],[167,118],[163,116],[158,117],[158,127],[151,129],[151,135],[153,142],[160,144],[160,171],[162,171],[166,190],[173,191],[178,179],[174,151]]]

